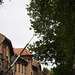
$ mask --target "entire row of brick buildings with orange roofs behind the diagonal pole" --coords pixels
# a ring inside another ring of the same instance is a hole
[[[11,41],[0,33],[0,75],[5,75],[14,61],[14,55],[17,57],[22,50],[23,48],[13,49]],[[40,75],[41,65],[32,57],[33,54],[25,49],[7,75]]]

